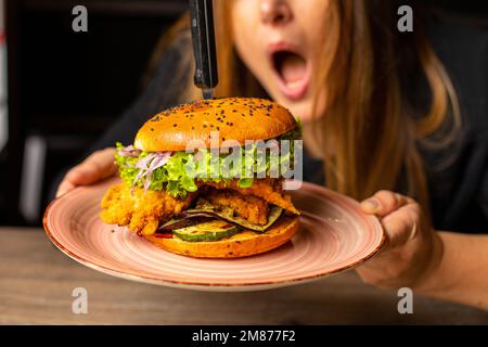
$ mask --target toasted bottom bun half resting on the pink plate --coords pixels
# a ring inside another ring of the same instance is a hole
[[[291,240],[299,229],[299,217],[284,217],[265,233],[244,231],[214,242],[187,242],[176,236],[143,235],[159,248],[196,258],[240,258],[274,249]]]

